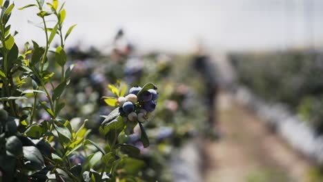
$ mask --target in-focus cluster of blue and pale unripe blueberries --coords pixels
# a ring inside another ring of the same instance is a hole
[[[117,105],[119,105],[124,115],[130,121],[144,123],[148,121],[151,112],[156,109],[158,93],[155,89],[149,89],[138,94],[141,89],[139,86],[130,88],[129,94],[126,97],[119,97],[117,99]]]

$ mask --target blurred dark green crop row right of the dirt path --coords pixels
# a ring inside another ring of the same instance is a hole
[[[268,103],[284,103],[317,135],[323,132],[323,57],[319,52],[231,54],[239,83]]]

